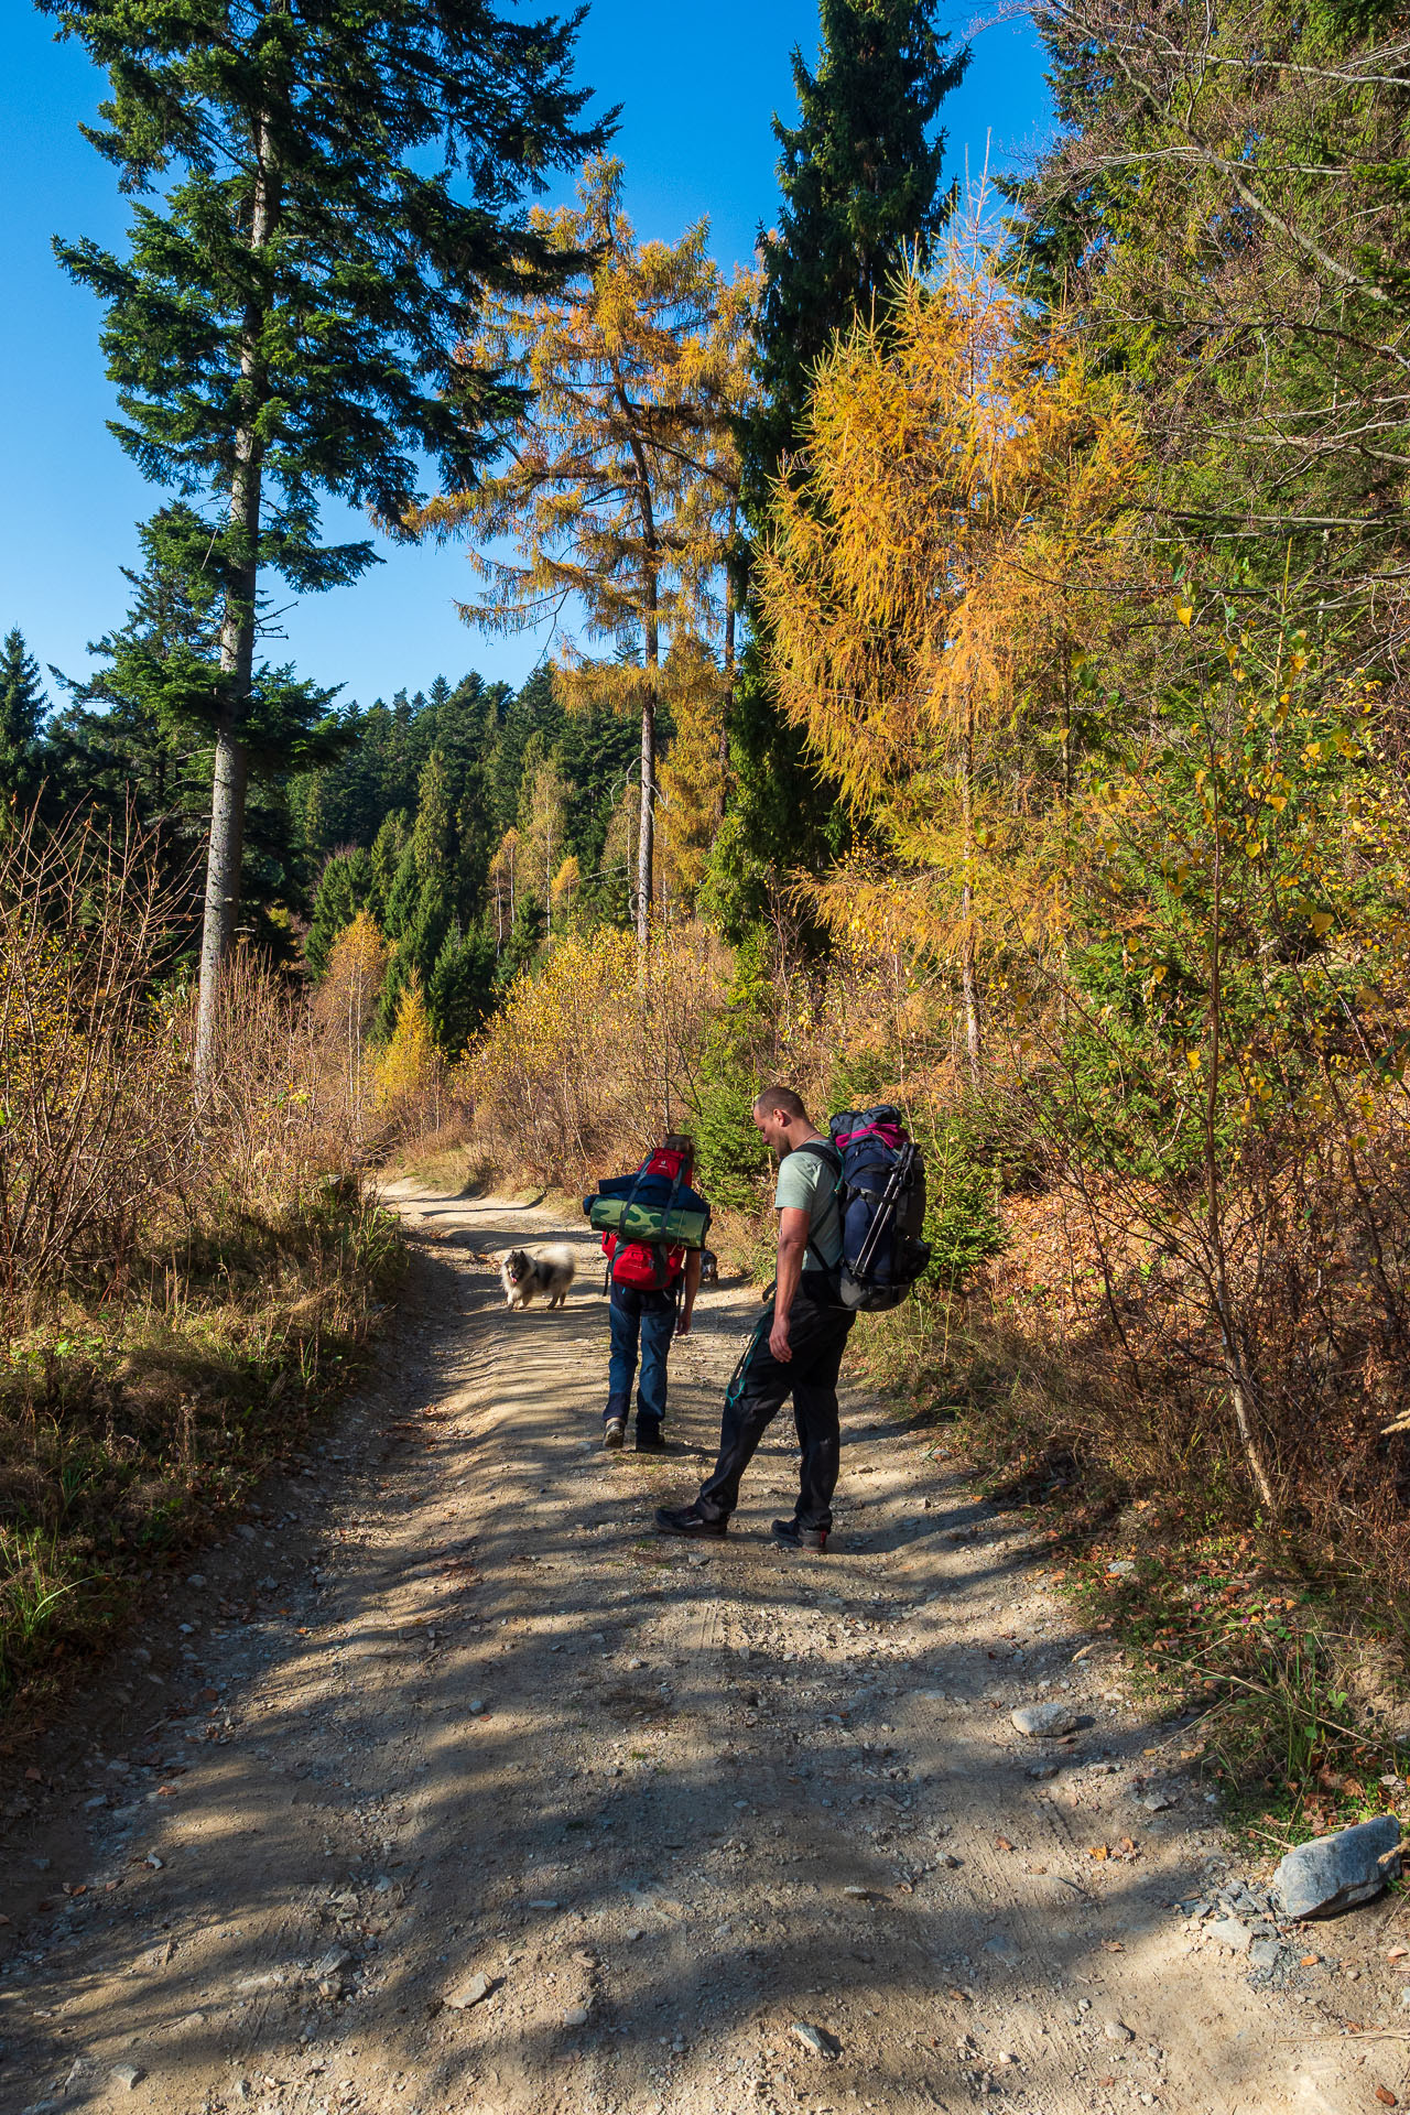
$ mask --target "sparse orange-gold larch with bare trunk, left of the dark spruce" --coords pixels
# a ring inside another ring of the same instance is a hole
[[[524,389],[518,423],[471,491],[421,508],[410,527],[474,535],[484,580],[471,622],[505,630],[569,615],[611,645],[569,649],[569,704],[641,711],[636,937],[653,901],[655,723],[668,647],[719,609],[738,499],[734,415],[748,389],[755,279],[708,256],[708,222],[676,243],[641,243],[621,212],[621,163],[588,163],[579,207],[535,209],[533,226],[577,269],[556,294],[486,305],[461,347],[467,383],[507,372]],[[480,402],[482,391],[469,389]],[[512,554],[503,554],[503,544]]]

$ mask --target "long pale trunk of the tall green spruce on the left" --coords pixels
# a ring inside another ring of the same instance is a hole
[[[268,123],[256,129],[256,178],[249,216],[249,250],[258,256],[279,218],[279,165],[268,135]],[[258,417],[264,406],[264,305],[245,307],[241,330],[241,417],[235,431],[235,470],[230,474],[230,575],[224,618],[220,624],[222,706],[216,725],[216,780],[211,787],[211,842],[205,863],[205,920],[201,926],[201,992],[197,998],[197,1087],[209,1083],[216,1058],[216,1024],[220,1015],[220,973],[235,937],[239,909],[239,876],[245,850],[245,780],[247,753],[243,742],[249,681],[254,675],[254,622],[260,575],[260,478],[264,446],[258,438]]]

